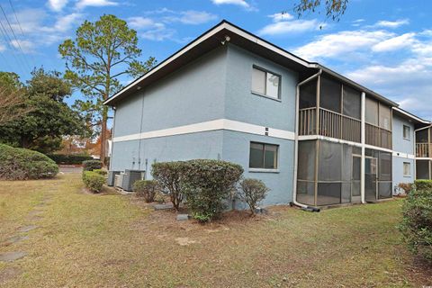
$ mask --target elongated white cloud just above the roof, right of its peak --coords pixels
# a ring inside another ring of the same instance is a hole
[[[341,54],[370,48],[392,35],[386,31],[340,31],[320,36],[311,43],[293,49],[293,53],[310,60],[338,58]]]

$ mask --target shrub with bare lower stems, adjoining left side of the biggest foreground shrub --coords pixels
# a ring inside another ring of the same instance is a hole
[[[183,166],[184,162],[160,162],[151,166],[151,175],[157,181],[161,192],[169,195],[175,211],[183,201]]]

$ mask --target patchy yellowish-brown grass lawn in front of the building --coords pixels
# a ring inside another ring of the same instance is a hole
[[[40,211],[40,212],[39,212]],[[275,207],[200,225],[131,196],[83,192],[79,174],[0,181],[2,287],[432,285],[401,244],[401,200],[320,213]],[[36,229],[20,232],[20,228]],[[11,243],[10,238],[27,239]]]

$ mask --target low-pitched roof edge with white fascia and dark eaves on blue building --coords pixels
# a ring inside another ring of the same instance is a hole
[[[355,81],[338,74],[328,67],[300,58],[275,44],[259,38],[257,35],[229,23],[226,20],[221,21],[209,31],[202,33],[201,36],[191,41],[189,44],[184,46],[184,48],[179,49],[173,55],[160,62],[156,67],[150,69],[146,74],[123,87],[118,93],[113,94],[110,98],[105,100],[103,104],[115,106],[116,103],[119,103],[121,99],[124,99],[129,94],[133,94],[142,87],[156,82],[158,79],[174,72],[179,67],[186,65],[193,61],[193,59],[202,56],[211,49],[219,47],[221,42],[226,40],[227,36],[229,37],[230,43],[238,45],[243,49],[247,49],[263,58],[269,58],[282,66],[293,68],[293,70],[299,72],[303,76],[311,76],[311,74],[316,73],[317,70],[322,69],[323,72],[338,78],[339,81],[352,85],[383,103],[390,106],[398,106],[398,104],[392,102],[392,100],[385,98],[381,94],[375,93],[363,85],[359,85]]]

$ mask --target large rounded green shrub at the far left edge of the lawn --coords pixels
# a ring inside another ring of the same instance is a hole
[[[0,179],[40,179],[57,174],[56,163],[40,152],[0,144]]]

